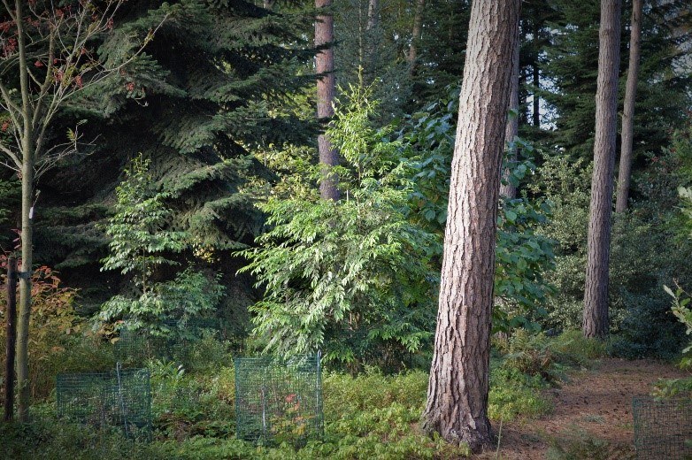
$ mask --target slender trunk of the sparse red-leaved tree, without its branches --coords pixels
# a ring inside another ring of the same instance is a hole
[[[24,17],[22,0],[15,1],[18,18]],[[32,198],[34,196],[34,154],[35,139],[32,126],[33,107],[29,94],[27,69],[27,43],[22,21],[17,21],[17,42],[19,49],[19,88],[24,118],[21,142],[21,278],[19,281],[19,318],[17,321],[17,389],[19,390],[19,421],[27,422],[31,388],[29,387],[28,343],[29,317],[31,315],[31,265],[33,257],[32,237]]]

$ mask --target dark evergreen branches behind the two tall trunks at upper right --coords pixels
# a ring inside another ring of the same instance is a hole
[[[558,1],[548,27],[550,41],[539,54],[545,54],[542,78],[548,85],[539,95],[549,103],[554,125],[550,142],[573,158],[593,156],[596,114],[596,73],[598,65],[599,2]],[[629,18],[628,8],[623,18]],[[634,155],[658,151],[667,142],[666,131],[684,118],[689,103],[689,74],[680,69],[686,34],[676,28],[688,20],[681,2],[651,5],[642,24],[642,64],[634,118]],[[628,34],[627,20],[622,34]],[[627,39],[621,40],[622,56],[627,56]],[[621,59],[620,75],[626,74],[627,59]],[[620,97],[626,78],[620,79]]]

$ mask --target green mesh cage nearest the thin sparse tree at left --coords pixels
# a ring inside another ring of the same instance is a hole
[[[122,429],[128,439],[149,439],[151,384],[148,369],[61,373],[56,378],[58,417]]]

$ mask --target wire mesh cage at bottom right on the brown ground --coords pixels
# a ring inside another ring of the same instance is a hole
[[[692,459],[692,401],[635,397],[634,449],[637,458]]]

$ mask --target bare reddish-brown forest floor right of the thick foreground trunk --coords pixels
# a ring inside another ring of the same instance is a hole
[[[504,423],[499,455],[477,458],[542,460],[549,449],[555,458],[593,458],[594,449],[601,458],[634,458],[633,396],[650,394],[659,379],[684,376],[660,361],[604,358],[593,369],[571,372],[562,387],[546,390],[553,406],[549,415]]]

